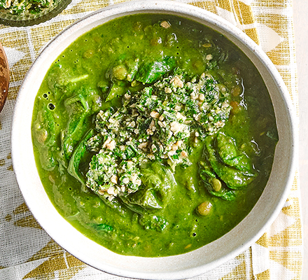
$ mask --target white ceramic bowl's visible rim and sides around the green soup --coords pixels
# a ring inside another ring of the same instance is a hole
[[[163,258],[118,255],[82,235],[59,215],[41,184],[31,141],[34,99],[45,73],[71,42],[111,19],[134,13],[181,15],[215,29],[235,43],[255,64],[269,90],[276,114],[279,143],[267,186],[252,211],[220,239],[190,253]],[[66,251],[104,272],[139,279],[184,279],[214,269],[256,241],[286,201],[293,182],[297,144],[295,117],[286,86],[264,52],[242,31],[218,16],[186,4],[170,1],[131,1],[88,15],[64,30],[41,52],[25,77],[15,105],[12,128],[13,167],[20,190],[42,228]]]

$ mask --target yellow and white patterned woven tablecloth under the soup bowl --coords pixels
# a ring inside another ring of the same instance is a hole
[[[36,223],[22,198],[10,157],[10,127],[22,79],[44,46],[65,27],[117,0],[73,0],[56,18],[34,27],[0,26],[10,66],[8,100],[0,113],[0,280],[120,279],[85,265]],[[291,0],[181,0],[225,18],[262,46],[285,81],[297,111]],[[20,139],[22,141],[22,139]],[[195,279],[301,279],[302,224],[298,174],[278,218],[246,251]]]

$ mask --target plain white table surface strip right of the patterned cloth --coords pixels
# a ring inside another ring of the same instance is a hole
[[[308,5],[307,0],[293,0],[295,48],[297,55],[298,93],[300,102],[300,192],[304,262],[302,280],[308,279]]]

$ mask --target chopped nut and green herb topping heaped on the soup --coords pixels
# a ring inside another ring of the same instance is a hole
[[[127,92],[116,113],[107,109],[97,114],[97,138],[91,141],[98,141],[99,153],[90,162],[87,187],[113,200],[139,190],[141,164],[149,160],[166,159],[172,170],[191,165],[188,139],[197,143],[218,132],[232,106],[229,90],[223,94],[225,86],[209,73],[190,81],[183,76],[170,74],[133,94]]]

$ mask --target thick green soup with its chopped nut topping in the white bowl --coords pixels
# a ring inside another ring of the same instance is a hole
[[[144,257],[234,228],[278,141],[249,59],[208,27],[157,14],[112,20],[64,50],[38,91],[32,137],[57,211],[111,251]]]

